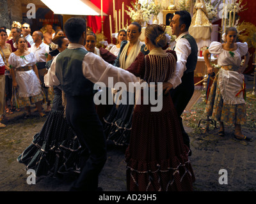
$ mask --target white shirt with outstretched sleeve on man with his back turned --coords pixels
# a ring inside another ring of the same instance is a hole
[[[68,49],[74,48],[83,48],[84,50],[86,50],[83,45],[69,43]],[[47,87],[52,87],[53,85],[60,85],[60,81],[55,74],[56,59],[58,59],[58,55],[53,59],[51,68],[44,76],[44,83]],[[129,71],[125,71],[124,69],[117,68],[112,64],[109,64],[101,57],[99,57],[99,55],[95,55],[92,52],[88,52],[88,54],[84,55],[82,70],[85,78],[87,78],[94,84],[96,84],[97,82],[102,82],[106,85],[106,87],[109,87],[109,77],[113,77],[113,85],[115,85],[117,82],[124,82],[127,87],[129,87],[129,82],[143,82],[140,77],[136,77]]]

